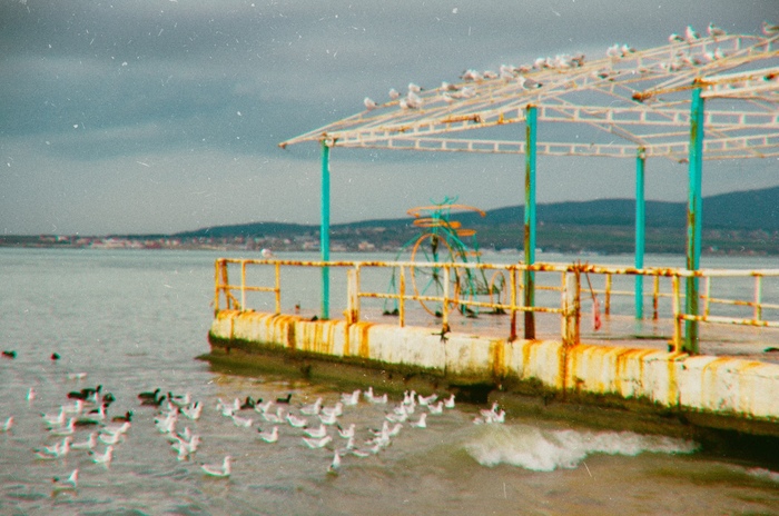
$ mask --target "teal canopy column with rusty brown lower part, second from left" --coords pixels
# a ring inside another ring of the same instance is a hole
[[[535,264],[535,129],[536,108],[527,106],[525,116],[525,264]],[[524,306],[535,306],[535,272],[524,272]],[[525,338],[535,338],[535,314],[525,311]]]

